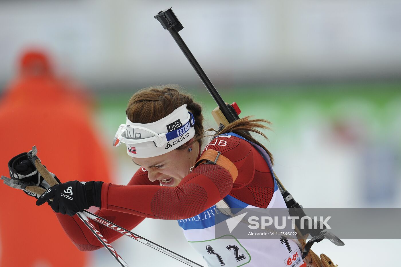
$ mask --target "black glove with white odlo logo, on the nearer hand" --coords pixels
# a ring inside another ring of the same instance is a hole
[[[77,212],[97,206],[100,208],[100,192],[103,182],[79,182],[70,181],[63,184],[56,184],[49,188],[36,201],[40,206],[53,198],[51,208],[55,212],[73,216]]]

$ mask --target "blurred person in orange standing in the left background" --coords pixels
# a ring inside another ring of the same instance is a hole
[[[90,121],[89,101],[73,83],[56,77],[41,51],[25,53],[19,75],[0,101],[0,173],[13,156],[35,145],[57,177],[110,182],[108,160]],[[85,266],[48,205],[0,184],[0,266]]]

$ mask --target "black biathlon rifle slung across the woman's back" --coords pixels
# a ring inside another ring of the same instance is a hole
[[[182,26],[181,22],[178,20],[177,16],[174,14],[171,7],[166,10],[158,12],[157,15],[154,16],[154,18],[156,18],[160,22],[160,24],[162,24],[165,30],[168,30],[168,32],[170,32],[171,36],[178,44],[178,47],[180,47],[182,53],[184,53],[186,59],[188,59],[191,66],[194,68],[196,74],[199,76],[202,83],[205,85],[207,91],[209,91],[213,99],[216,101],[217,108],[215,108],[212,111],[212,115],[215,121],[217,122],[217,125],[219,125],[219,130],[223,129],[223,127],[226,127],[229,123],[232,123],[237,119],[239,119],[238,115],[241,111],[238,108],[237,104],[234,102],[233,104],[230,105],[225,101],[223,101],[223,98],[220,96],[219,92],[217,92],[217,89],[214,87],[209,77],[207,77],[206,73],[203,71],[198,61],[196,61],[194,55],[192,55],[191,51],[186,46],[184,40],[182,40],[178,32],[182,30],[184,26]],[[277,186],[286,202],[286,206],[289,209],[290,215],[298,216],[298,218],[305,217],[306,214],[302,206],[298,202],[296,202],[295,199],[292,197],[292,195],[286,190],[286,188],[284,188],[283,184],[280,182],[280,180],[277,178],[274,172],[273,175],[275,176],[275,179],[277,181]],[[308,254],[312,254],[311,257],[314,260],[314,262],[318,264],[318,266],[324,266],[324,267],[336,266],[324,254],[320,255],[321,259],[317,257],[317,255],[314,254],[313,251],[310,250],[310,248],[315,242],[320,242],[324,238],[329,239],[330,241],[332,241],[332,243],[338,246],[343,246],[344,243],[340,239],[338,239],[338,237],[336,237],[334,234],[327,231],[327,229],[325,229],[324,226],[304,227],[304,229],[301,229],[300,219],[295,220],[295,225],[296,229],[298,230],[298,233],[302,236],[300,239],[304,249],[302,253],[302,258],[304,259]],[[312,225],[315,225],[313,220],[312,220]],[[319,229],[309,229],[309,228],[319,228]],[[312,239],[306,243],[305,239],[308,237],[308,235],[311,235]]]

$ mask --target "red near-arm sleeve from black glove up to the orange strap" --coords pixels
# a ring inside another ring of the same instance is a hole
[[[231,174],[219,165],[200,164],[176,187],[103,183],[101,208],[148,218],[179,220],[199,214],[227,196]]]

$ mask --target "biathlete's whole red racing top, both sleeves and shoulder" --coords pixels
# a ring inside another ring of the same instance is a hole
[[[221,152],[235,164],[238,170],[235,182],[221,166],[200,164],[178,186],[170,188],[160,186],[158,181],[150,182],[148,172],[140,168],[126,186],[103,183],[101,208],[95,213],[125,229],[133,229],[145,217],[166,220],[190,218],[213,206],[227,194],[252,206],[267,207],[273,196],[273,176],[263,157],[249,142],[234,136],[217,137],[207,144],[206,149]],[[102,247],[77,215],[57,213],[57,218],[79,250]],[[113,229],[92,223],[109,242],[122,237]]]

